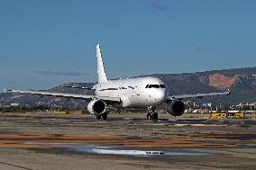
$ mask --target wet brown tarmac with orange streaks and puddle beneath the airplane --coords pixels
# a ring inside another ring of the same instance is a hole
[[[255,169],[250,117],[0,113],[0,169]]]

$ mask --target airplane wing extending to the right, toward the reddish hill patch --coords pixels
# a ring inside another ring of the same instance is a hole
[[[172,95],[168,97],[168,100],[174,101],[174,100],[181,100],[181,99],[187,99],[187,98],[201,99],[206,96],[227,95],[227,94],[230,94],[230,90],[228,90],[227,92],[221,92],[221,93]]]

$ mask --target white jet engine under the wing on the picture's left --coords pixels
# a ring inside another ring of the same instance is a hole
[[[101,100],[94,100],[88,103],[87,110],[91,114],[102,114],[106,110],[106,103]]]

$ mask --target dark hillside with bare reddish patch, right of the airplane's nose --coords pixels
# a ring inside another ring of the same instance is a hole
[[[171,94],[210,93],[230,89],[231,95],[221,98],[204,98],[204,101],[256,102],[256,67],[183,74],[154,74],[151,76],[159,77],[167,85]]]

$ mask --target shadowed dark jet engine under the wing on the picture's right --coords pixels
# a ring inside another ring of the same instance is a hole
[[[172,116],[181,116],[184,111],[185,104],[180,101],[173,101],[167,106],[167,112]]]

